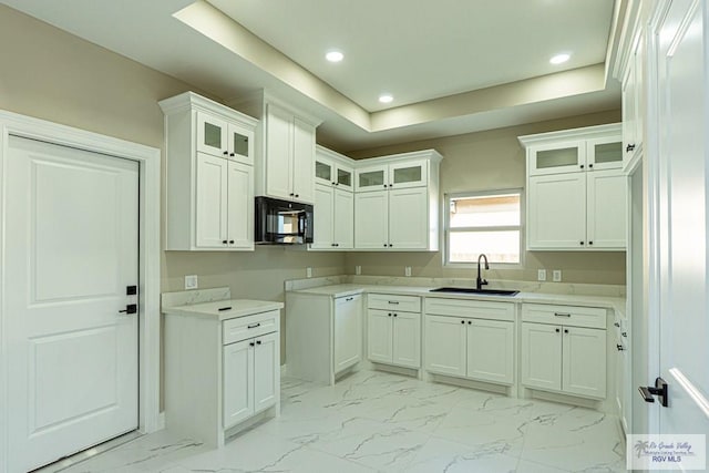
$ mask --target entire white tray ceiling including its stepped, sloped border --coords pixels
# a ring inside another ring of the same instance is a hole
[[[603,66],[614,0],[0,2],[224,100],[265,88],[343,152],[620,104]]]

